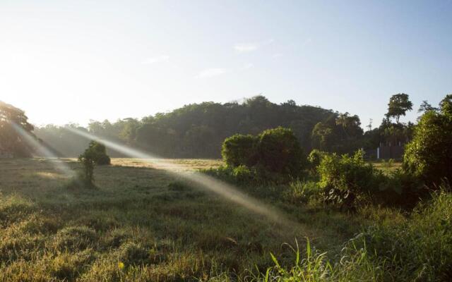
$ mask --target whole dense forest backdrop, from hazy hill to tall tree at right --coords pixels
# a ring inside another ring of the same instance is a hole
[[[406,94],[393,97],[398,95]],[[408,95],[402,98],[408,100]],[[390,139],[405,142],[410,138],[412,124],[398,122],[398,117],[410,110],[410,106],[403,108],[399,105],[398,109],[402,114],[397,114],[397,111],[391,114],[391,109],[388,109],[380,128],[372,129],[370,125],[365,133],[356,115],[341,114],[319,106],[299,106],[293,100],[275,104],[263,96],[246,99],[243,103],[189,104],[141,120],[91,121],[87,128],[76,124],[66,126],[88,130],[97,136],[169,158],[220,158],[221,145],[226,137],[236,133],[257,134],[278,126],[291,128],[305,152],[321,149],[347,153],[359,148],[373,152],[370,149],[378,147],[379,142]],[[391,122],[391,117],[396,119],[396,123]],[[89,142],[56,125],[36,127],[34,132],[61,157],[78,156]],[[121,157],[117,152],[109,153],[112,157]]]

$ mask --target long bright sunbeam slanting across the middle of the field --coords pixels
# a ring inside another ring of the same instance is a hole
[[[240,206],[249,209],[249,211],[254,212],[255,214],[265,216],[267,219],[270,219],[275,223],[282,223],[284,225],[291,226],[292,228],[301,227],[299,223],[287,219],[287,216],[285,216],[282,212],[278,211],[274,207],[270,207],[268,204],[264,204],[263,202],[256,200],[254,197],[240,192],[239,190],[237,190],[237,188],[234,188],[234,186],[228,183],[220,181],[211,176],[206,176],[203,173],[198,173],[195,171],[185,171],[184,166],[169,163],[161,157],[141,152],[138,149],[132,149],[124,145],[119,145],[116,142],[97,137],[85,131],[70,127],[66,127],[66,129],[90,140],[101,142],[105,146],[109,147],[109,149],[113,149],[114,151],[120,152],[129,157],[143,159],[144,161],[148,161],[150,163],[162,164],[162,169],[165,169],[172,175],[179,176],[191,181],[192,183],[196,183],[197,187],[215,192],[215,194],[220,195],[226,200],[230,200],[231,202],[239,204]]]

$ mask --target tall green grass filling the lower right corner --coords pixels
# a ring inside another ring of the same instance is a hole
[[[452,194],[443,188],[419,204],[403,222],[381,221],[328,257],[307,240],[297,241],[292,264],[270,254],[274,266],[251,269],[244,281],[452,281]],[[224,274],[222,281],[225,281]],[[218,280],[220,276],[212,278]]]

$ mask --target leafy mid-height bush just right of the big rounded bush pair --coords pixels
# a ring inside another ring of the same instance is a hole
[[[318,171],[325,202],[341,204],[343,207],[352,207],[357,197],[378,190],[384,180],[381,171],[364,161],[362,150],[353,157],[347,154],[323,154]]]

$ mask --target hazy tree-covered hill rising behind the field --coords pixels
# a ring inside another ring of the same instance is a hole
[[[301,147],[309,152],[314,125],[337,115],[317,106],[297,105],[293,101],[275,104],[266,97],[257,96],[243,103],[189,104],[141,120],[93,121],[87,128],[70,126],[161,157],[220,158],[225,138],[236,133],[257,135],[278,126],[291,128]],[[47,125],[36,128],[35,133],[65,157],[78,156],[87,146],[83,137],[64,130],[64,127]],[[111,154],[112,157],[124,157],[118,152]]]

